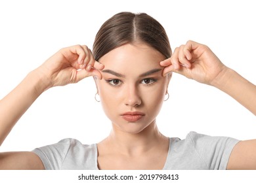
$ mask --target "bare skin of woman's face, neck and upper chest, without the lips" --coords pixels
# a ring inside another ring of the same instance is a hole
[[[100,58],[102,80],[95,80],[110,136],[98,143],[100,169],[163,169],[169,139],[156,125],[170,76],[162,76],[164,57],[145,44],[125,44]],[[135,67],[136,66],[136,67]],[[114,71],[114,73],[113,73]],[[125,112],[142,112],[135,122]]]

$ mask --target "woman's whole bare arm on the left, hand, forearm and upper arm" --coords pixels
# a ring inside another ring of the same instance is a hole
[[[103,68],[87,46],[70,46],[56,52],[0,100],[0,146],[42,92],[53,86],[79,82],[87,76],[101,79],[98,70]],[[0,169],[44,169],[44,166],[33,152],[5,152],[0,153]]]

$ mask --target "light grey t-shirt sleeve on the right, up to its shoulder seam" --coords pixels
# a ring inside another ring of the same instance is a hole
[[[225,170],[228,159],[234,148],[239,142],[230,137],[211,137],[196,132],[188,133],[186,139],[190,139],[194,150],[202,158],[205,165],[211,169]]]

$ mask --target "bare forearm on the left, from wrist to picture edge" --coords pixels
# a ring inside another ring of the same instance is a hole
[[[43,77],[37,70],[29,73],[22,82],[0,101],[0,145],[12,127],[32,103],[46,90]]]

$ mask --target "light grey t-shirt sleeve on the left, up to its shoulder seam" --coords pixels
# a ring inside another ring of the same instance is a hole
[[[72,144],[72,139],[63,139],[56,144],[36,148],[32,152],[37,154],[47,170],[61,169],[62,163]]]

